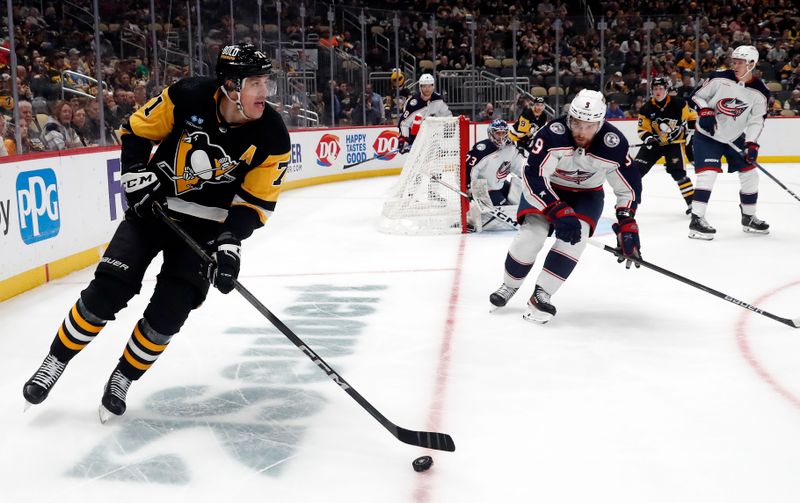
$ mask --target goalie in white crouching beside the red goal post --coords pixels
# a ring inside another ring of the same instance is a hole
[[[467,217],[477,232],[510,228],[486,210],[499,207],[509,216],[515,214],[522,193],[522,169],[527,162],[511,142],[506,121],[493,120],[487,133],[489,138],[473,145],[466,157],[467,189],[474,199]]]

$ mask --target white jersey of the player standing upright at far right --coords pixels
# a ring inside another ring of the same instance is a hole
[[[711,108],[716,113],[714,134],[698,131],[727,143],[744,133],[745,141],[758,142],[767,117],[769,90],[761,79],[739,83],[733,70],[714,72],[692,93],[690,105],[697,110]]]

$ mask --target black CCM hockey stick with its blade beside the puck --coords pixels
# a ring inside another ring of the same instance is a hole
[[[195,252],[206,264],[212,263],[214,260],[208,256],[208,254],[203,250],[203,248],[197,244],[197,242],[192,239],[189,234],[186,233],[185,230],[181,228],[177,223],[175,223],[171,218],[167,216],[164,210],[157,206],[156,213],[158,214],[161,221],[166,224],[170,229],[172,229],[180,238]],[[456,445],[453,442],[453,438],[446,434],[446,433],[436,433],[436,432],[428,432],[428,431],[414,431],[414,430],[407,430],[405,428],[401,428],[397,426],[393,422],[389,421],[383,414],[381,414],[378,409],[372,406],[366,398],[361,396],[358,391],[356,391],[344,378],[339,375],[335,370],[333,370],[325,360],[322,359],[317,353],[314,352],[313,349],[308,347],[305,342],[303,342],[289,327],[283,324],[281,320],[279,320],[272,312],[264,306],[259,300],[250,293],[238,280],[233,280],[233,286],[237,292],[239,292],[242,297],[244,297],[253,307],[255,307],[258,312],[264,315],[265,318],[272,323],[275,328],[281,331],[283,335],[286,336],[287,339],[292,341],[292,343],[297,346],[300,351],[305,353],[312,362],[316,363],[319,368],[325,372],[328,377],[331,378],[333,382],[339,385],[350,397],[353,398],[358,404],[364,408],[367,412],[372,415],[375,419],[378,420],[384,428],[389,430],[389,433],[394,435],[394,437],[401,442],[410,445],[416,445],[418,447],[425,447],[427,449],[435,449],[440,451],[455,451]]]

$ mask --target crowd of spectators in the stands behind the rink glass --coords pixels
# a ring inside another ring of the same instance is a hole
[[[171,3],[156,1],[161,49],[169,38],[168,30],[184,36],[189,24],[185,11],[170,10]],[[20,114],[23,153],[97,145],[101,131],[113,142],[115,131],[149,97],[189,75],[188,65],[172,64],[166,71],[162,67],[157,87],[146,51],[123,57],[123,33],[139,36],[145,48],[149,44],[149,1],[106,2],[101,12],[100,93],[105,117],[101,125],[100,107],[94,98],[98,86],[94,80],[93,30],[82,26],[76,16],[66,15],[68,7],[62,2],[21,0],[15,4],[19,99],[14,103],[11,97],[15,77],[6,33],[0,47],[0,133],[5,138],[0,155],[16,152],[15,108]],[[91,8],[89,0],[72,4]],[[233,21],[228,15],[229,2],[201,0],[201,4],[206,60],[212,65],[206,74],[213,74],[215,54],[229,42]],[[353,31],[353,25],[337,22],[328,26],[328,4],[308,5],[305,19],[300,18],[299,2],[286,4],[281,13],[282,40],[297,44],[305,36],[308,48],[319,49],[319,61],[314,65],[316,91],[306,93],[302,85],[295,85],[276,105],[287,125],[307,125],[307,110],[314,110],[322,124],[330,124],[331,107],[337,125],[395,122],[408,89],[395,100],[395,88],[388,84],[380,89],[369,84],[362,89],[360,71],[347,73],[336,68],[331,75],[327,70],[329,60],[323,57],[327,57],[331,45],[344,57],[360,58],[361,36]],[[552,104],[553,89],[557,88],[555,94],[563,104],[580,89],[600,89],[602,82],[609,114],[614,117],[637,115],[647,98],[648,77],[668,77],[672,92],[686,97],[700,79],[728,64],[733,48],[752,44],[760,54],[756,74],[773,91],[770,114],[800,115],[800,8],[792,0],[589,0],[585,4],[564,0],[348,0],[336,6],[353,12],[365,8],[365,61],[370,72],[390,72],[394,67],[393,52],[387,53],[373,36],[383,34],[393,43],[395,13],[399,18],[399,45],[420,64],[417,75],[430,71],[429,66],[422,65],[426,61],[435,64],[437,74],[472,69],[473,39],[465,29],[468,20],[475,22],[475,69],[500,74],[503,65],[499,62],[513,55],[511,30],[516,20],[516,74],[529,79],[530,92],[543,89]],[[265,6],[265,11],[269,8]],[[589,26],[587,8],[595,22],[604,19],[607,23],[602,52],[601,33]],[[251,14],[248,11],[242,17],[253,19]],[[269,26],[276,22],[274,14],[273,19],[265,16]],[[561,24],[558,33],[556,20]],[[654,23],[649,43],[645,30],[648,20]],[[238,41],[258,43],[255,31],[242,26],[234,26]],[[273,44],[273,51],[275,35],[272,30],[265,38],[267,45]],[[290,74],[294,71],[288,66],[283,70]],[[413,84],[410,80],[408,84]],[[480,117],[475,119],[513,120],[508,116],[508,104],[504,108],[500,103],[480,103],[477,109]]]

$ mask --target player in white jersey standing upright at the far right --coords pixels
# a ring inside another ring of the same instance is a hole
[[[728,172],[739,173],[739,201],[742,229],[745,232],[768,234],[769,225],[756,217],[758,200],[758,137],[764,129],[769,90],[753,77],[758,63],[758,50],[742,45],[731,54],[732,69],[714,72],[698,87],[689,100],[697,109],[694,135],[694,163],[697,187],[692,203],[689,237],[714,239],[716,229],[705,219],[708,200],[717,174],[722,172],[720,158],[728,160]],[[733,143],[744,151],[729,145]]]

